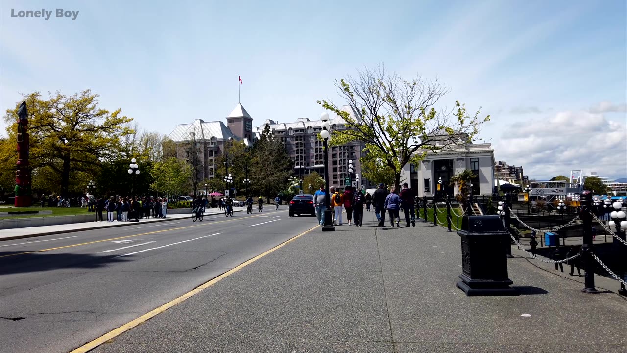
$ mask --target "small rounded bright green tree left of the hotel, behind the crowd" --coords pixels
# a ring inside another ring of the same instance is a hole
[[[191,173],[189,164],[174,157],[155,162],[151,169],[154,182],[150,188],[167,196],[187,194],[190,190]]]

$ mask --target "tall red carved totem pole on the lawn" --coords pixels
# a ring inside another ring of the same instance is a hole
[[[31,205],[31,171],[28,165],[29,136],[28,109],[26,102],[22,102],[18,109],[18,163],[15,171],[15,207],[29,207]]]

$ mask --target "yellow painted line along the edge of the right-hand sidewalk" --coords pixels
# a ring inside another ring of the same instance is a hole
[[[202,285],[196,287],[195,289],[193,289],[191,291],[188,291],[184,295],[181,295],[178,298],[176,298],[176,299],[174,299],[172,301],[169,301],[168,303],[166,303],[164,305],[161,305],[161,307],[158,307],[158,308],[152,310],[149,313],[145,313],[144,315],[136,318],[135,320],[132,320],[129,323],[125,323],[124,325],[118,327],[117,329],[112,330],[112,331],[108,332],[107,334],[104,334],[104,335],[98,337],[97,339],[92,340],[91,342],[87,342],[86,344],[76,348],[75,350],[72,350],[70,353],[85,353],[85,352],[89,352],[90,350],[98,347],[98,345],[101,345],[101,344],[107,342],[108,340],[114,339],[115,337],[117,337],[117,336],[119,336],[121,334],[124,334],[124,332],[127,332],[128,330],[134,328],[135,326],[139,325],[140,323],[146,322],[150,318],[155,317],[156,315],[159,315],[162,312],[165,312],[166,310],[168,310],[171,307],[174,307],[174,305],[182,303],[183,301],[187,300],[191,296],[194,296],[194,295],[200,293],[201,291],[206,290],[210,286],[213,286],[214,284],[218,283],[218,281],[223,280],[224,278],[226,278],[226,277],[230,276],[231,274],[239,271],[240,269],[245,268],[249,264],[254,263],[258,259],[263,258],[263,256],[266,256],[267,254],[272,253],[273,251],[279,249],[280,247],[285,246],[285,244],[288,244],[289,242],[295,241],[299,237],[302,237],[303,235],[307,234],[308,232],[313,231],[317,227],[320,227],[320,225],[316,225],[312,229],[309,229],[308,231],[302,232],[302,233],[298,234],[297,236],[295,236],[293,238],[290,238],[287,241],[282,242],[281,244],[278,244],[277,246],[273,247],[272,249],[266,251],[265,253],[259,254],[259,255],[255,256],[254,258],[246,261],[245,263],[240,264],[236,268],[229,269],[229,271],[226,271],[225,273],[220,274],[218,277],[214,278],[213,280],[208,281],[206,283],[203,283]]]

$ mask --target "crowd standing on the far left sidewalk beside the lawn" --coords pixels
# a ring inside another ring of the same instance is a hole
[[[95,212],[96,222],[103,222],[103,212],[107,214],[107,222],[125,222],[132,219],[166,218],[166,197],[94,197],[88,194],[83,197],[88,212]],[[83,205],[81,206],[83,207]]]

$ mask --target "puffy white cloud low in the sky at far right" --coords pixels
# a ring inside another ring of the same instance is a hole
[[[530,178],[595,170],[605,176],[627,173],[627,126],[603,114],[562,111],[511,124],[493,147],[497,160],[522,165]]]

